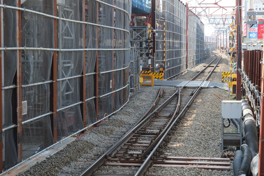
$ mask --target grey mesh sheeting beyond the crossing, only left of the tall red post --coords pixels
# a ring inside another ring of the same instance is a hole
[[[156,64],[163,64],[165,18],[164,79],[186,70],[186,7],[179,1],[157,3]],[[159,70],[156,70],[159,71]]]

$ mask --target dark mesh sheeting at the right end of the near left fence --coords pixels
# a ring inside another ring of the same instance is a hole
[[[114,1],[106,0],[108,4],[114,5]],[[124,6],[125,5],[125,6]],[[122,0],[116,1],[116,6],[130,12],[129,3]],[[129,15],[120,9],[114,9],[105,4],[99,4],[99,24],[122,28],[129,31]],[[124,23],[126,21],[126,23]],[[102,49],[126,49],[129,48],[129,33],[126,31],[115,30],[107,27],[99,27],[99,48]],[[126,75],[128,71],[119,70],[112,72],[111,70],[125,68],[129,65],[130,50],[118,51],[99,51],[99,119],[118,110],[124,102],[127,101],[128,91],[130,87],[126,87],[114,94],[109,94],[117,89],[121,89],[128,84]],[[110,72],[108,72],[110,71]],[[124,82],[124,78],[126,81]],[[109,94],[109,95],[106,95]],[[106,96],[104,96],[106,95]]]

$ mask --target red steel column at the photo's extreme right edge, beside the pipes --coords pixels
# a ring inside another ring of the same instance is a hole
[[[264,52],[264,49],[263,49]],[[263,57],[264,59],[264,57]],[[260,105],[260,146],[259,146],[259,163],[258,163],[258,175],[264,176],[264,64],[261,64],[261,105]]]

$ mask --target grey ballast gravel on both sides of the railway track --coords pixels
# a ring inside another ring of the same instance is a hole
[[[206,60],[204,64],[208,64]],[[228,68],[228,59],[220,62],[222,65],[215,73]],[[177,80],[188,80],[201,70],[200,64],[177,76]],[[213,82],[221,82],[218,74],[210,78]],[[221,76],[221,75],[220,75]],[[79,137],[58,153],[36,164],[20,175],[79,175],[89,164],[103,154],[122,134],[151,106],[161,86],[141,87],[131,94],[130,101],[119,112],[100,123],[100,126],[88,129],[85,135]],[[164,87],[164,86],[163,86]],[[169,87],[166,87],[169,88]],[[175,87],[171,87],[175,89]],[[227,100],[228,92],[219,88],[203,89],[191,104],[189,110],[181,118],[173,140],[178,146],[170,148],[173,156],[220,157],[221,155],[221,101]],[[173,141],[172,141],[173,142]],[[183,167],[156,167],[158,172],[148,175],[233,175],[230,171],[205,170]],[[131,174],[124,172],[123,174]]]

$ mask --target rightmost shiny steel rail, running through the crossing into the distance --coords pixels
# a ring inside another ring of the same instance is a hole
[[[216,56],[217,58],[217,56]],[[215,59],[216,59],[215,58]],[[214,59],[214,60],[215,60]],[[218,63],[220,62],[220,60],[222,59],[222,57],[220,57],[219,61],[215,64],[214,68],[211,70],[211,72],[209,73],[209,75],[205,78],[204,81],[208,80],[209,77],[212,75],[213,71],[215,70],[216,66],[218,65]],[[213,61],[214,61],[213,60]],[[213,62],[212,61],[212,62]],[[211,63],[212,63],[211,62]],[[210,64],[211,64],[210,63]],[[210,65],[208,64],[208,65]],[[203,69],[204,70],[204,69]],[[200,74],[202,72],[199,72]],[[196,78],[196,76],[194,77]],[[178,114],[178,116],[175,118],[175,120],[172,122],[172,124],[169,126],[168,130],[165,132],[165,134],[161,137],[161,139],[158,141],[157,145],[152,149],[151,153],[149,154],[149,156],[147,157],[147,159],[145,159],[144,163],[141,165],[141,167],[138,169],[138,171],[135,173],[134,176],[141,176],[146,174],[145,172],[147,171],[148,167],[151,165],[152,160],[155,159],[154,154],[158,151],[159,147],[165,143],[165,139],[167,138],[168,134],[172,131],[173,127],[176,125],[178,119],[180,117],[182,117],[185,112],[187,111],[187,108],[190,106],[190,104],[192,103],[192,101],[195,99],[195,97],[197,96],[197,94],[200,92],[202,87],[202,84],[200,84],[199,88],[196,89],[196,91],[194,92],[194,94],[192,95],[191,99],[188,101],[188,103],[185,105],[185,107],[183,108],[183,110]]]

